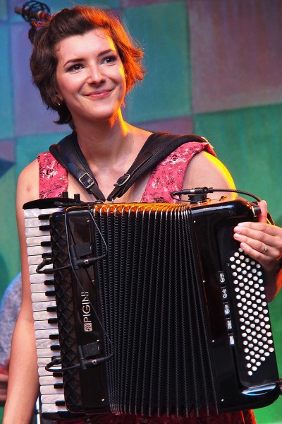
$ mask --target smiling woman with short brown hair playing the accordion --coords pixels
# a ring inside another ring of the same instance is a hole
[[[77,6],[63,9],[49,22],[42,23],[35,35],[30,62],[34,81],[47,106],[59,113],[58,123],[75,126],[80,149],[105,197],[109,196],[118,177],[128,170],[151,135],[125,122],[121,114],[126,93],[145,74],[141,59],[141,50],[125,33],[118,20],[94,8]],[[209,143],[181,146],[178,154],[181,158],[178,162],[184,163],[178,172],[182,175],[181,186],[234,187],[231,176],[215,158]],[[159,169],[152,172],[153,177],[151,172],[135,182],[118,200],[154,200],[152,183]],[[173,178],[168,175],[168,179]],[[161,184],[159,186],[158,190],[164,196],[164,187]],[[71,197],[80,193],[82,201],[94,200],[56,163],[50,153],[39,155],[38,160],[23,170],[18,180],[17,220],[22,257],[23,304],[13,336],[4,424],[28,423],[38,393],[22,206],[27,201],[38,199],[39,193],[40,197],[61,196],[66,189]],[[261,208],[261,223],[238,225],[234,237],[242,242],[245,252],[258,259],[267,271],[270,299],[278,290],[278,283],[274,285],[271,281],[275,280],[278,271],[276,259],[282,250],[282,231],[266,225],[264,202]],[[195,417],[195,414],[192,416]],[[245,421],[241,413],[234,413],[206,418],[204,422],[240,421],[251,423],[252,414],[246,413]],[[196,418],[187,419],[187,423],[196,422]]]

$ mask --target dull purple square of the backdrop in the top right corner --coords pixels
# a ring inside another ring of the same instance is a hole
[[[281,1],[188,4],[193,112],[281,102]]]

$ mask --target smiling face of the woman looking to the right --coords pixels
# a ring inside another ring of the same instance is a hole
[[[75,124],[114,118],[126,92],[123,63],[111,37],[103,30],[73,35],[56,48],[57,92]]]

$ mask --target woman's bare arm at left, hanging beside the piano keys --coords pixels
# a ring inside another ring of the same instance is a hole
[[[23,217],[23,204],[37,198],[38,165],[37,161],[34,161],[23,170],[18,179],[16,213],[20,240],[23,300],[12,340],[8,396],[3,424],[29,424],[38,396],[35,330]]]

